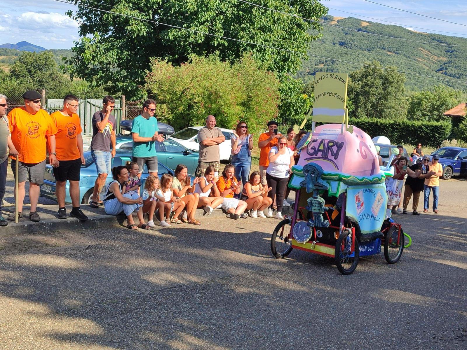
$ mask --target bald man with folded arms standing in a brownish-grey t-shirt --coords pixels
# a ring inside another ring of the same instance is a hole
[[[226,140],[224,134],[216,126],[216,118],[208,115],[206,126],[198,131],[199,158],[196,176],[204,176],[207,167],[214,167],[219,172],[219,144]]]

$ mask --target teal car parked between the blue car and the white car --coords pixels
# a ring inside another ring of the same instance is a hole
[[[130,135],[117,135],[115,148],[117,150],[132,151],[133,139]],[[157,161],[175,169],[178,164],[184,164],[188,168],[188,174],[195,174],[198,167],[198,152],[191,151],[174,140],[156,142]]]

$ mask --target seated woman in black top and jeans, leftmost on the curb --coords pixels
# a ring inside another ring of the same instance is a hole
[[[104,209],[108,215],[119,215],[122,211],[127,216],[127,227],[137,230],[138,227],[149,230],[144,223],[142,203],[143,199],[137,193],[125,193],[122,195],[125,183],[128,181],[128,169],[120,165],[112,169],[113,181],[109,183],[104,199]],[[138,214],[139,226],[133,221],[132,213]]]

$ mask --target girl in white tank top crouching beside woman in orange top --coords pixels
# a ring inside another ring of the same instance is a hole
[[[214,176],[214,167],[207,167],[205,175],[199,178],[199,182],[194,186],[194,192],[199,193],[198,208],[204,207],[206,216],[214,212],[213,208],[218,208],[224,197],[220,196],[216,182],[219,181],[219,176]]]

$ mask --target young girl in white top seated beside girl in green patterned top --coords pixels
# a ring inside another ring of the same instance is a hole
[[[170,213],[175,210],[174,217],[178,217],[185,207],[185,203],[177,197],[173,196],[172,192],[172,175],[164,174],[161,178],[161,187],[156,191],[157,208],[159,210],[160,225],[170,227]],[[164,220],[165,214],[165,220]],[[176,222],[176,221],[172,221]],[[176,222],[177,223],[177,222]],[[181,222],[180,222],[181,223]],[[178,224],[178,223],[177,223]]]

